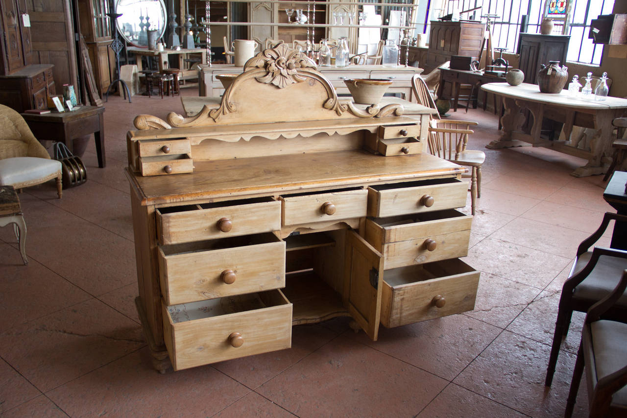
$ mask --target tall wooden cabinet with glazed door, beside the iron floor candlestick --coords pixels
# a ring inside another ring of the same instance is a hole
[[[78,0],[80,29],[92,62],[93,77],[101,94],[107,91],[113,80],[115,55],[109,45],[111,36],[108,0]]]

